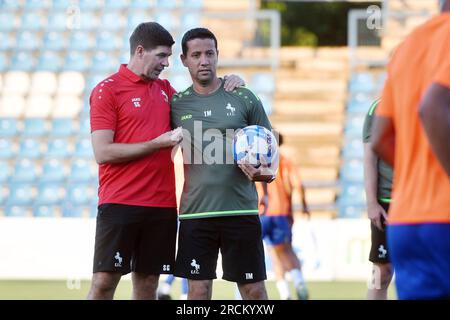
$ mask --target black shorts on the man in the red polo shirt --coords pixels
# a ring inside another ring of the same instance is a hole
[[[176,208],[102,204],[95,233],[94,273],[172,273]]]

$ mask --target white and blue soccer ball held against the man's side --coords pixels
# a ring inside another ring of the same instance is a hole
[[[278,169],[278,143],[268,129],[253,125],[236,132],[233,156],[237,164],[261,165],[275,174]]]

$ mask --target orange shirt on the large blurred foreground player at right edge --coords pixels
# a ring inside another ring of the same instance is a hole
[[[378,116],[392,118],[395,127],[393,224],[450,223],[450,179],[431,150],[418,113],[432,83],[450,88],[450,13],[433,17],[397,48],[376,110]]]

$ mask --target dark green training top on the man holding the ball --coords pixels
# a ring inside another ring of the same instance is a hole
[[[223,83],[207,95],[191,86],[173,96],[171,122],[184,131],[179,218],[257,215],[255,184],[233,161],[233,137],[249,125],[272,129],[259,98],[244,87],[226,92]]]

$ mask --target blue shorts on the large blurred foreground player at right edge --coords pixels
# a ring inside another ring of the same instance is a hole
[[[450,299],[450,224],[390,225],[399,299]]]

